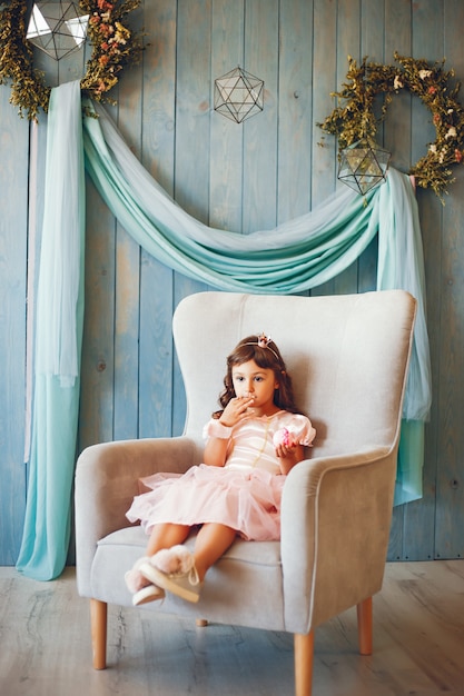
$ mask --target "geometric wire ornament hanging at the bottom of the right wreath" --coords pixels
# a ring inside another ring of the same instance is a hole
[[[342,150],[338,179],[365,196],[386,179],[391,152],[363,138]]]

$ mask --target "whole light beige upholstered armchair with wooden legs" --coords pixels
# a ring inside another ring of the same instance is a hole
[[[295,634],[297,696],[312,689],[314,629],[357,606],[359,650],[372,652],[372,596],[382,587],[415,300],[402,290],[334,297],[203,292],[174,317],[185,380],[181,437],[95,445],[76,473],[79,594],[91,600],[93,666],[106,667],[107,604],[131,606],[124,573],[147,537],[125,514],[138,479],[201,461],[225,357],[265,331],[279,346],[296,400],[317,436],[288,475],[282,540],[237,539],[208,571],[196,605],[167,596],[135,612],[190,615]],[[246,587],[246,591],[244,588]]]

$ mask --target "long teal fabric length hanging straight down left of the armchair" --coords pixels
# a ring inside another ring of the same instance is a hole
[[[83,322],[85,170],[79,82],[53,89],[37,290],[34,395],[19,571],[49,580],[69,546]]]

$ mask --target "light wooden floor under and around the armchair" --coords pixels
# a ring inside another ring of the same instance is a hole
[[[75,570],[52,583],[0,568],[2,696],[292,696],[292,636],[111,607],[108,669],[91,668]],[[314,696],[464,695],[464,560],[388,564],[374,655],[355,612],[316,632]]]

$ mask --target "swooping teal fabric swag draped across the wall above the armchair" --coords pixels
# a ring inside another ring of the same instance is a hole
[[[365,207],[348,189],[274,230],[245,236],[207,227],[175,203],[100,107],[98,113],[85,120],[87,171],[138,243],[186,276],[223,290],[296,294],[340,274],[377,232],[378,196]]]

